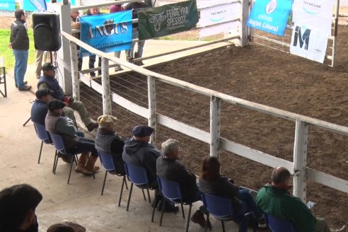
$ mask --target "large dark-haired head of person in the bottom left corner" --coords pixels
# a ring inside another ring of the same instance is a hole
[[[13,185],[0,192],[0,231],[37,232],[35,209],[41,193],[30,185]]]

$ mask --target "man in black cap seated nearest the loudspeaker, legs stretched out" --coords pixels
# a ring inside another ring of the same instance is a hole
[[[98,127],[98,123],[93,122],[88,115],[85,105],[79,100],[68,98],[62,88],[59,86],[57,79],[54,78],[57,66],[53,66],[50,62],[42,65],[43,76],[37,82],[37,89],[48,88],[51,91],[51,96],[54,99],[64,101],[64,114],[76,122],[74,110],[79,112],[83,124],[88,129],[88,132]]]

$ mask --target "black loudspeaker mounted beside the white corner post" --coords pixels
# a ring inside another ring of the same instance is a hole
[[[32,15],[35,49],[57,52],[62,47],[59,14],[34,12]]]

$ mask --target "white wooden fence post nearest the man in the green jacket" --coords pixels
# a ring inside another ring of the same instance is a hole
[[[294,195],[306,203],[308,125],[296,120],[294,143]]]

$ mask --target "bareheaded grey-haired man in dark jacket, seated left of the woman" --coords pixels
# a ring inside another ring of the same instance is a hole
[[[181,189],[183,202],[196,202],[201,199],[196,182],[196,175],[185,168],[178,161],[179,159],[179,142],[175,139],[167,139],[162,143],[163,156],[157,158],[156,170],[158,177],[165,180],[178,182]],[[204,214],[208,214],[204,206],[192,215],[191,221],[205,228],[206,220]],[[211,224],[208,225],[211,228]]]

